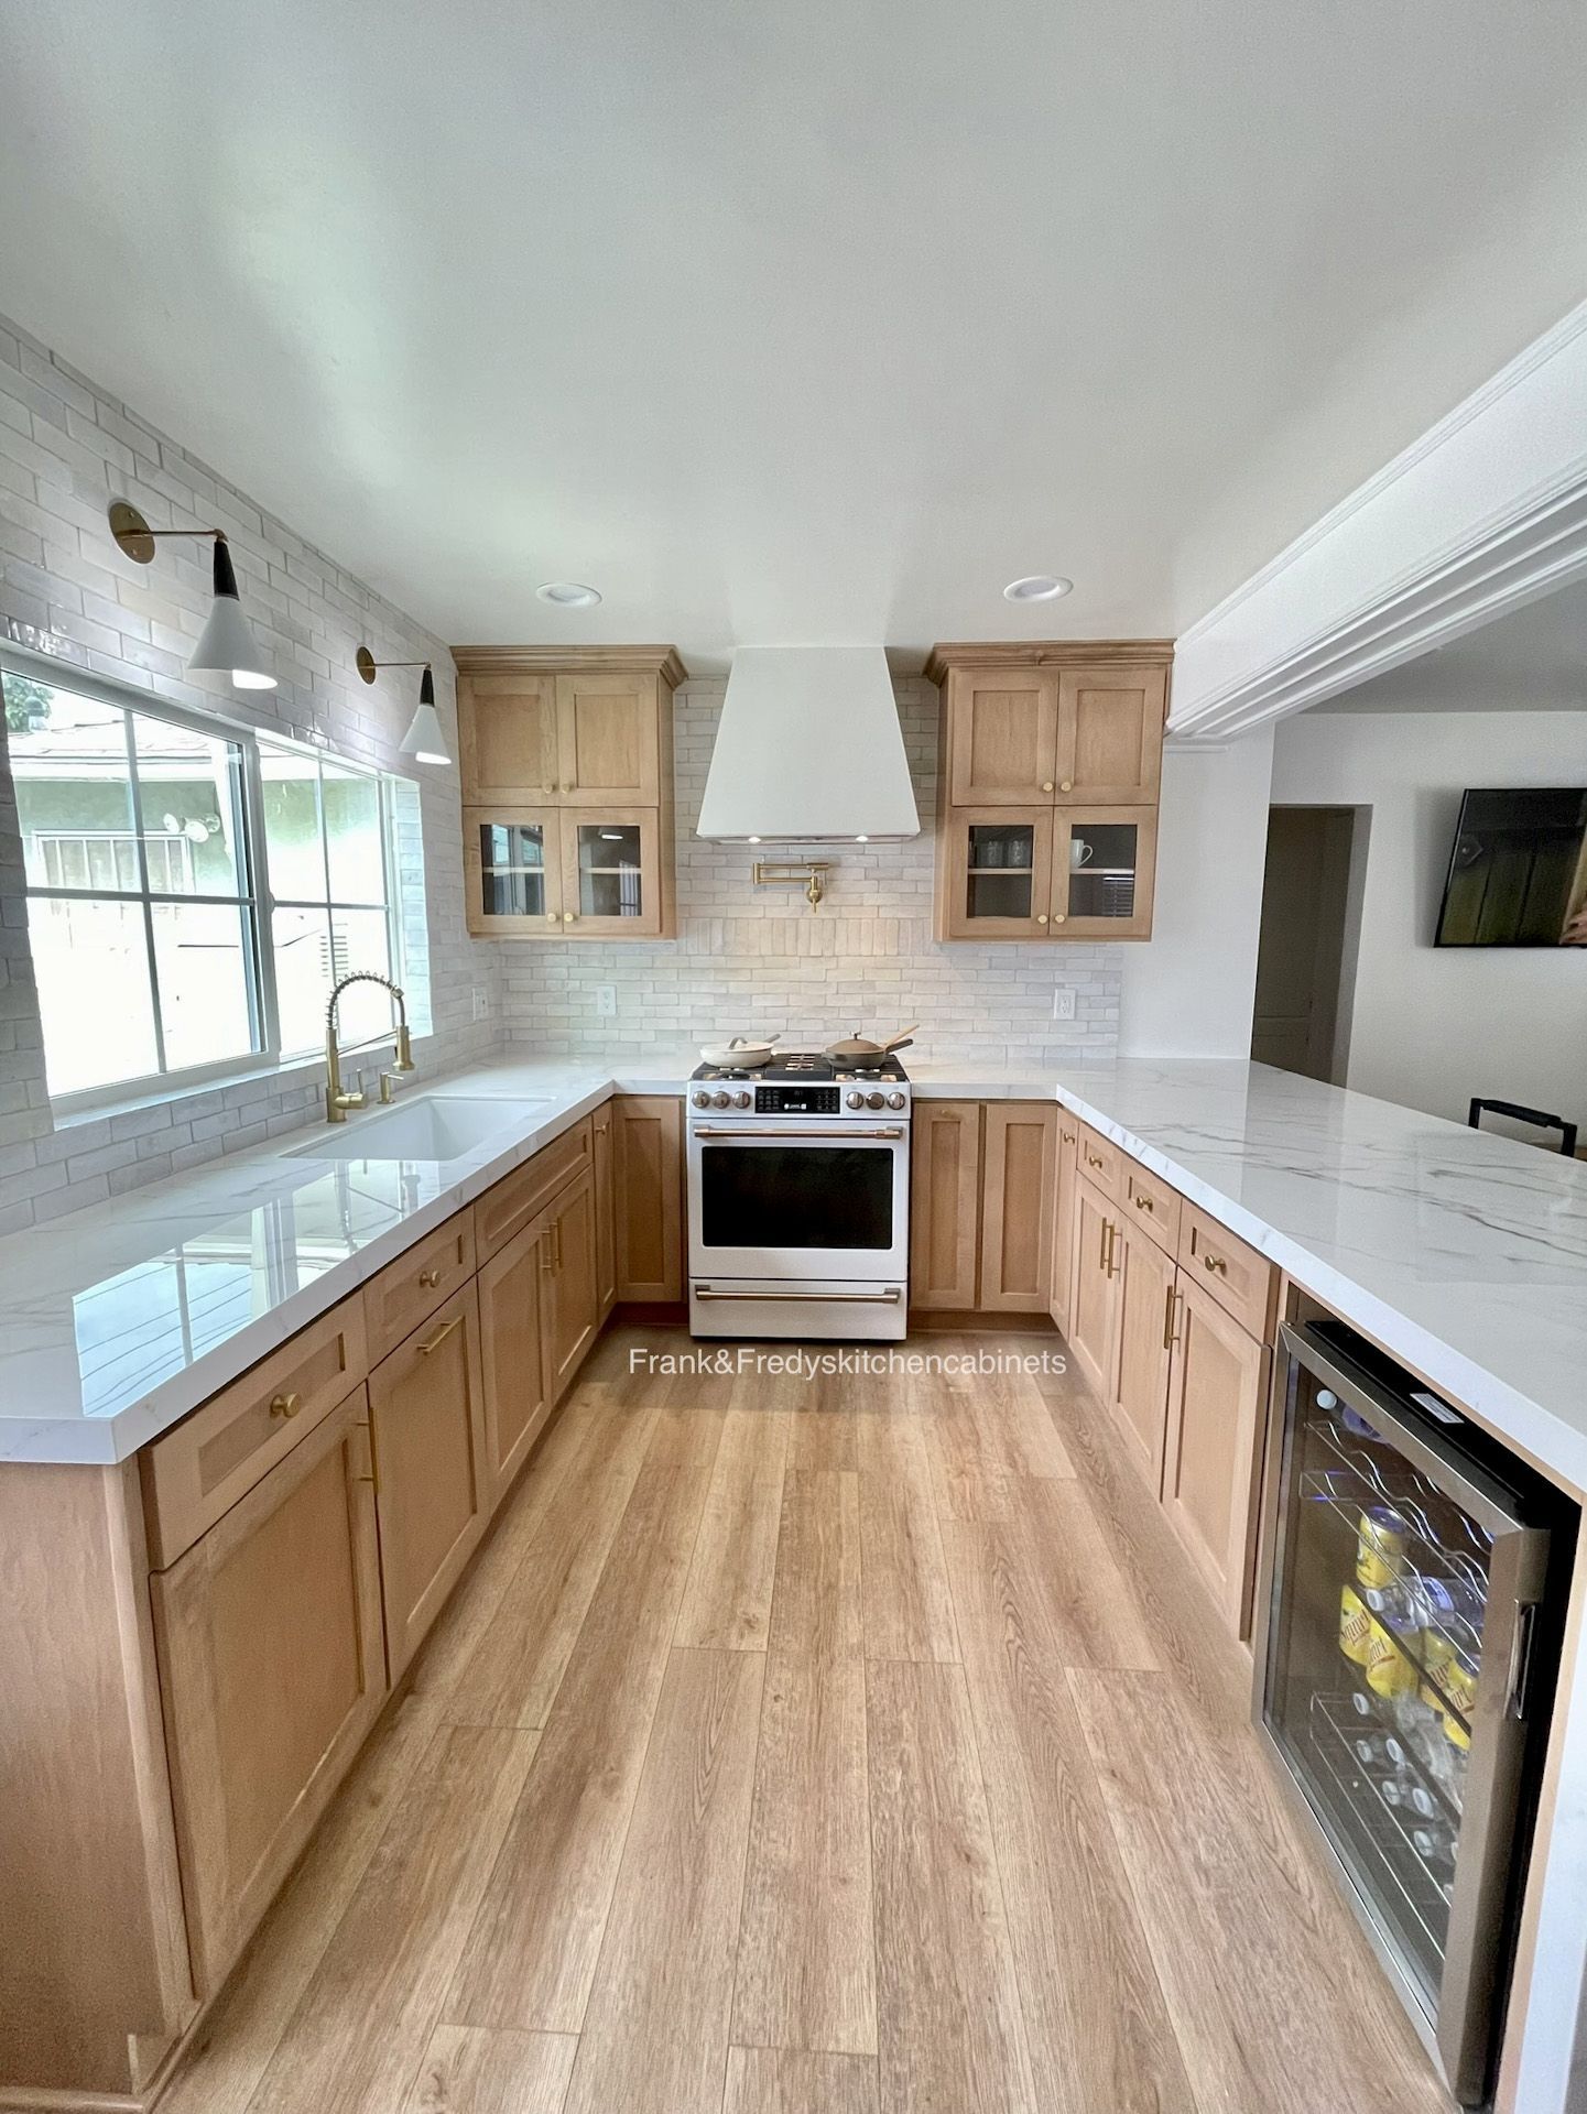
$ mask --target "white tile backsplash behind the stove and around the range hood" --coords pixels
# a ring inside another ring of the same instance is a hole
[[[835,863],[818,911],[797,888],[754,888],[752,848],[702,843],[693,833],[723,687],[693,681],[676,696],[678,939],[494,941],[514,1042],[556,1055],[645,1053],[765,1027],[801,1044],[921,1019],[921,1059],[1040,1063],[1114,1053],[1118,947],[932,939],[938,704],[930,683],[896,685],[921,835],[811,846],[809,856]],[[792,858],[797,848],[769,846],[765,856]],[[1076,991],[1073,1021],[1052,1019],[1061,983]],[[615,985],[615,1019],[596,1013],[600,985]]]

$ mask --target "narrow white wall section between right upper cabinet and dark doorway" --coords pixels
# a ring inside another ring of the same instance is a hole
[[[1122,949],[1124,1055],[1251,1055],[1270,772],[1270,727],[1164,748],[1152,943]]]

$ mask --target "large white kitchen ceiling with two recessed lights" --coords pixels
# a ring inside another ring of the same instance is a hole
[[[454,641],[1166,634],[1587,292],[1524,15],[6,0],[0,309]]]

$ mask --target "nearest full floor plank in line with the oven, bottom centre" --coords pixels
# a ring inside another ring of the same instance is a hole
[[[761,1706],[733,2040],[877,2046],[864,1668],[773,1653]]]

